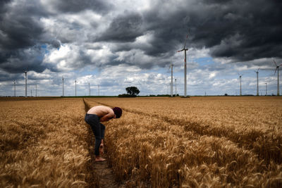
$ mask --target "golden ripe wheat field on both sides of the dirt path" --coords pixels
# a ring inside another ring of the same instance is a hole
[[[92,106],[123,187],[282,187],[281,97],[0,101],[1,187],[97,187]]]

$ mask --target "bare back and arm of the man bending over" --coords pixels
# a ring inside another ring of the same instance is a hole
[[[108,121],[111,118],[116,118],[113,109],[108,106],[94,106],[87,113],[98,115],[100,121]]]

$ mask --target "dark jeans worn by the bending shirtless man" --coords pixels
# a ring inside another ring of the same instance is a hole
[[[88,114],[85,115],[85,122],[88,123],[95,135],[95,148],[94,153],[96,156],[99,156],[99,146],[104,139],[105,134],[105,125],[100,123],[100,118],[98,115],[95,114]]]

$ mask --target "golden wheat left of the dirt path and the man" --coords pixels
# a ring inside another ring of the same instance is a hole
[[[94,185],[82,99],[0,103],[0,187]]]

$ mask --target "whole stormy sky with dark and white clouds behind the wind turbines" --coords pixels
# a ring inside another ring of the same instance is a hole
[[[278,0],[0,1],[0,96],[276,94],[282,63]],[[277,74],[277,73],[276,73]],[[282,89],[280,89],[282,90]],[[175,92],[175,82],[173,83]]]

